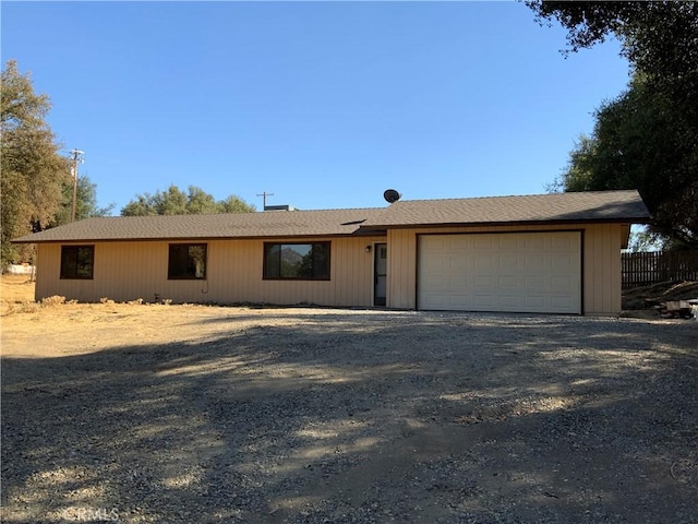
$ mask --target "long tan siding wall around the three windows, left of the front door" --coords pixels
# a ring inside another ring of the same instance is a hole
[[[173,302],[216,303],[316,303],[369,307],[373,301],[373,254],[366,246],[385,237],[335,237],[330,239],[329,281],[265,281],[262,277],[264,242],[312,242],[326,238],[264,240],[191,240],[207,243],[206,279],[168,279],[168,245],[186,240],[94,242],[93,279],[61,279],[61,246],[38,245],[36,299],[60,295],[97,302],[142,298]],[[75,242],[91,245],[93,242]]]

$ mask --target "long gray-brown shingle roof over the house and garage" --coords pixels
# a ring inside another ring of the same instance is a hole
[[[649,219],[637,191],[398,201],[387,207],[87,218],[19,243],[360,235],[388,227]]]

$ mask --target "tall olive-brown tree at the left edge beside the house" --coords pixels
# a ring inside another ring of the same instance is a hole
[[[71,181],[68,159],[59,154],[45,120],[50,107],[46,95],[34,92],[31,75],[8,61],[0,93],[3,267],[24,258],[10,240],[49,224],[61,206],[63,186]]]

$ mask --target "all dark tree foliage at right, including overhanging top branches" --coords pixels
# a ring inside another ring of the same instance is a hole
[[[558,21],[574,52],[615,36],[634,79],[595,114],[557,184],[566,191],[637,189],[650,235],[698,247],[698,2],[526,0]]]

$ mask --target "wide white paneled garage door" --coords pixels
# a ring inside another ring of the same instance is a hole
[[[581,234],[421,235],[419,309],[581,313]]]

